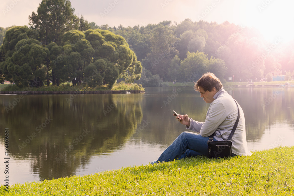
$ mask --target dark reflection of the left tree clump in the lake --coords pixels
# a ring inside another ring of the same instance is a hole
[[[142,121],[141,97],[79,95],[67,102],[69,95],[25,96],[9,114],[1,110],[5,126],[14,130],[10,139],[16,145],[11,146],[11,156],[31,158],[32,170],[40,173],[41,180],[70,176],[78,167],[86,167],[91,156],[111,153],[128,141]],[[13,100],[7,98],[3,105]],[[103,113],[108,106],[111,111]],[[38,133],[35,128],[46,117],[53,120]],[[36,138],[20,151],[18,145],[33,132]]]

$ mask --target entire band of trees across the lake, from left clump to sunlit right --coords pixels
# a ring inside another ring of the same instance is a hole
[[[223,81],[232,76],[259,81],[273,72],[291,78],[294,71],[294,41],[286,44],[277,37],[270,43],[258,30],[228,21],[98,26],[74,15],[69,0],[43,0],[29,19],[29,27],[0,29],[0,38],[7,33],[0,47],[2,80],[24,86],[34,79],[41,81],[39,86],[45,81],[111,86],[117,79],[161,86],[207,71]],[[36,53],[34,61],[21,57]]]

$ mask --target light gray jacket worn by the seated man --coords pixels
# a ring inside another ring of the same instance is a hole
[[[206,120],[198,122],[190,118],[190,126],[186,126],[186,128],[203,137],[209,137],[216,131],[214,134],[216,140],[227,140],[238,117],[237,104],[223,88],[213,98],[215,100],[208,108]],[[238,106],[240,119],[232,138],[232,153],[250,156],[252,153],[247,147],[244,113],[239,104]]]

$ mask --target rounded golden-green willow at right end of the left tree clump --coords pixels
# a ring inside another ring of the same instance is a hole
[[[126,40],[108,30],[72,30],[64,34],[64,46],[72,49],[64,59],[71,59],[71,80],[73,85],[85,82],[89,86],[113,86],[118,78],[128,82],[140,79],[142,66]]]

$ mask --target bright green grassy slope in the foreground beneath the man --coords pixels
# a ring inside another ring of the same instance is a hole
[[[293,195],[294,147],[14,184],[0,195]]]

